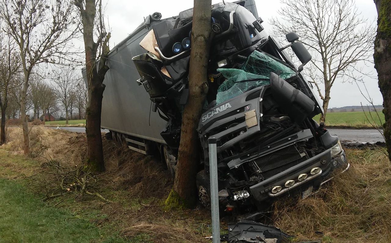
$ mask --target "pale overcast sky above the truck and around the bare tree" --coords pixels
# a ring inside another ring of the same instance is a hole
[[[154,12],[160,12],[163,18],[176,16],[180,11],[193,7],[193,0],[143,0],[143,1],[124,1],[124,0],[106,0],[106,15],[108,17],[111,29],[110,46],[114,47],[120,41],[125,39],[133,30],[136,29],[143,18]],[[221,0],[212,0],[212,4],[221,2]],[[233,2],[229,0],[226,2]],[[266,30],[270,30],[270,18],[278,16],[277,11],[282,4],[279,0],[266,1],[255,0],[258,9],[258,15],[262,17],[262,24]],[[377,18],[377,12],[373,0],[355,0],[359,11],[369,21]],[[270,32],[270,31],[269,31]],[[371,71],[376,77],[377,73],[373,64],[370,64],[366,71]],[[377,80],[367,79],[366,87],[373,98],[375,105],[383,103],[382,95],[379,91]],[[362,97],[356,84],[335,82],[331,90],[331,100],[329,107],[342,107],[348,105],[360,105],[360,102],[367,104]]]

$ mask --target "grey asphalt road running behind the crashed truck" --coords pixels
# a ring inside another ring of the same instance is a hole
[[[57,129],[56,127],[51,127]],[[71,132],[86,132],[84,127],[59,127]],[[330,134],[335,134],[341,141],[359,142],[359,143],[376,143],[384,142],[383,136],[376,129],[328,129]],[[102,129],[102,132],[108,132],[107,129]]]

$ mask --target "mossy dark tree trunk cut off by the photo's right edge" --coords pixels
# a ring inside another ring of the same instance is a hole
[[[375,0],[375,4],[378,20],[373,57],[380,92],[383,95],[383,113],[386,120],[383,124],[384,137],[391,160],[391,0]]]

